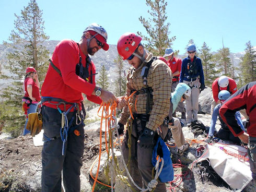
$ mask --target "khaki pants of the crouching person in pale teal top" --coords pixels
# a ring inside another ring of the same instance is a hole
[[[186,143],[186,141],[183,135],[180,120],[176,117],[173,117],[173,119],[174,125],[168,125],[168,127],[171,129],[172,138],[174,139],[176,146],[181,147]]]

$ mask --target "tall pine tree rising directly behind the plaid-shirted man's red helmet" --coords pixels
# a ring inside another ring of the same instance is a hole
[[[150,6],[151,10],[148,13],[152,16],[146,20],[142,16],[139,17],[139,21],[143,24],[146,29],[148,36],[143,35],[141,32],[137,32],[144,41],[147,41],[145,48],[156,56],[162,56],[165,54],[165,49],[171,47],[172,41],[176,37],[169,38],[169,27],[170,23],[165,22],[167,20],[166,16],[166,6],[167,2],[165,0],[146,0],[146,5]]]

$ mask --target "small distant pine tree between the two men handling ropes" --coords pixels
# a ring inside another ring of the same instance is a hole
[[[114,59],[115,64],[117,64],[117,68],[115,69],[115,73],[117,73],[118,77],[114,81],[114,93],[115,96],[119,97],[125,95],[126,92],[126,77],[123,75],[124,71],[124,63],[123,59],[118,55],[117,59]]]

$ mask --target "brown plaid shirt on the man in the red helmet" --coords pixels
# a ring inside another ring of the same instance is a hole
[[[152,58],[150,53],[146,58],[146,62],[149,62]],[[143,85],[143,79],[141,76],[142,68],[146,66],[146,62],[142,63],[138,69],[131,67],[127,74],[126,95],[131,94],[131,90],[140,90],[145,86]],[[153,89],[153,101],[150,103],[150,117],[146,124],[148,129],[156,130],[156,128],[164,122],[164,118],[169,113],[170,107],[170,95],[171,95],[171,82],[172,74],[170,68],[160,59],[154,61],[148,71],[147,85]],[[136,110],[135,110],[135,100]],[[145,114],[147,103],[147,93],[141,93],[137,96],[134,95],[130,99],[130,105],[132,107],[132,113]],[[120,123],[125,124],[130,116],[128,106],[125,106],[120,118]]]

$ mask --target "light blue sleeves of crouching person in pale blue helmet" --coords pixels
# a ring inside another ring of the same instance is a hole
[[[219,109],[221,106],[222,106],[222,104],[220,103],[214,107],[208,136],[213,136],[213,134],[214,134],[217,116],[219,116]],[[245,127],[243,127],[242,119],[241,119],[241,115],[240,115],[239,111],[236,112],[235,118],[237,120],[237,124],[242,128],[243,131],[245,131]]]

